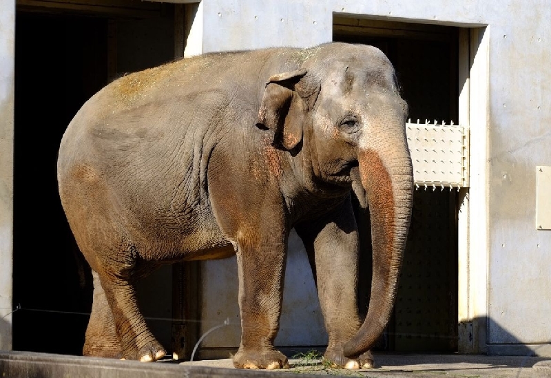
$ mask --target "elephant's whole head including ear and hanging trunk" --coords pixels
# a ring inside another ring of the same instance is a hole
[[[407,114],[391,62],[366,45],[322,46],[299,70],[272,76],[262,98],[258,126],[273,129],[280,149],[302,155],[304,185],[353,189],[371,213],[371,302],[346,357],[375,344],[394,305],[412,206]]]

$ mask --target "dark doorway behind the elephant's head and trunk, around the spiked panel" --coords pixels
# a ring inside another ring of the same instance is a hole
[[[380,48],[393,63],[411,122],[458,123],[457,28],[335,15],[333,41]],[[358,227],[369,215],[355,205]],[[377,348],[457,351],[457,191],[415,191],[396,305]],[[360,231],[360,310],[371,288],[371,235]]]

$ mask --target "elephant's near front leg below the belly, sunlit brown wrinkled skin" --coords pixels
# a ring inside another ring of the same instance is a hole
[[[287,240],[282,235],[250,235],[238,242],[241,344],[233,366],[250,369],[289,368],[287,357],[273,348],[278,333]]]

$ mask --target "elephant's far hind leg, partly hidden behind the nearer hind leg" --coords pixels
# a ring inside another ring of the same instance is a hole
[[[98,273],[92,271],[92,277],[94,277],[94,300],[90,321],[86,328],[83,355],[121,358],[123,348],[116,335],[111,308],[101,287]]]

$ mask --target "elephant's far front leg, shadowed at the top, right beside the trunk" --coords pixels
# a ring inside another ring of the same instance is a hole
[[[344,344],[361,324],[357,311],[358,235],[350,198],[326,216],[295,229],[309,254],[329,335],[324,359],[349,369],[373,367],[369,352],[359,359],[348,359],[343,353]]]

